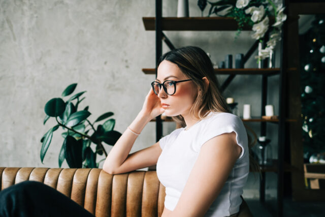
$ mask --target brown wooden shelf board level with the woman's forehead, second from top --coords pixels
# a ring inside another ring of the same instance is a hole
[[[296,68],[289,68],[288,71],[295,71]],[[147,75],[155,75],[155,69],[145,68],[142,72]],[[280,74],[280,68],[272,69],[214,69],[216,75],[278,75]]]

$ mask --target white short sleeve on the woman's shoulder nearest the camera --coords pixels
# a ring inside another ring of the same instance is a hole
[[[199,148],[208,140],[224,133],[236,133],[237,144],[242,148],[240,158],[248,150],[248,138],[243,121],[236,115],[231,113],[221,113],[215,115],[206,122],[200,129],[201,136],[199,140]]]

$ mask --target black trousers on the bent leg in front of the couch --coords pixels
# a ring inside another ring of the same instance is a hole
[[[24,181],[0,191],[0,216],[93,217],[94,215],[46,184]]]

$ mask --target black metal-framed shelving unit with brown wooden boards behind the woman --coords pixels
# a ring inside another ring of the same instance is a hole
[[[286,6],[287,1],[283,1],[283,4]],[[237,30],[237,23],[233,18],[229,17],[162,17],[162,1],[155,0],[155,17],[143,17],[143,23],[146,30],[155,30],[156,38],[156,66],[159,57],[163,54],[162,47],[163,41],[167,44],[170,49],[175,49],[171,41],[163,33],[163,30]],[[271,24],[274,19],[271,19]],[[270,25],[271,25],[270,24]],[[251,30],[249,27],[244,27],[243,30]],[[262,76],[262,106],[261,114],[265,115],[265,106],[267,105],[267,88],[268,88],[268,77],[269,76],[279,76],[279,117],[276,120],[265,120],[261,117],[252,118],[250,121],[261,122],[261,136],[266,136],[267,131],[267,122],[277,123],[278,124],[278,159],[275,161],[275,164],[272,167],[264,167],[262,169],[262,176],[260,178],[259,186],[259,200],[262,203],[265,203],[265,181],[266,181],[266,172],[276,172],[277,173],[277,216],[283,215],[283,173],[285,171],[290,171],[290,165],[285,163],[284,158],[284,145],[285,145],[285,123],[288,121],[296,121],[292,119],[286,119],[286,108],[285,108],[285,79],[286,73],[290,70],[297,69],[288,69],[286,66],[286,61],[283,59],[286,57],[285,42],[286,42],[286,23],[282,31],[281,40],[281,57],[280,57],[280,68],[276,69],[216,69],[216,74],[226,74],[229,75],[228,78],[221,85],[221,90],[224,90],[231,81],[237,75],[261,75]],[[268,35],[268,34],[266,34]],[[264,40],[264,43],[268,39]],[[247,51],[244,56],[244,62],[249,59],[252,53],[257,49],[258,41],[256,41],[251,48]],[[262,66],[267,66],[267,60],[263,61]],[[142,69],[145,74],[155,74],[157,76],[157,69]],[[163,135],[163,120],[161,120],[160,115],[157,116],[153,121],[156,122],[156,141],[158,141]],[[166,120],[170,121],[170,120]]]

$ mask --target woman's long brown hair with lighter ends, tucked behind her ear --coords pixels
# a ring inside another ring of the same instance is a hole
[[[171,63],[176,64],[184,75],[189,79],[192,79],[192,81],[198,87],[198,96],[189,111],[192,117],[204,119],[210,111],[232,113],[221,94],[211,59],[204,50],[193,46],[171,50],[159,58],[157,67],[163,60],[168,60]],[[206,85],[205,81],[202,79],[203,77],[208,79],[209,85]],[[182,115],[172,118],[181,127],[185,127],[185,121]],[[258,170],[259,167],[251,157],[252,154],[250,149],[254,145],[256,139],[252,140],[248,133],[247,136],[250,153],[250,168],[253,170]],[[256,135],[254,134],[254,137],[255,136]]]

